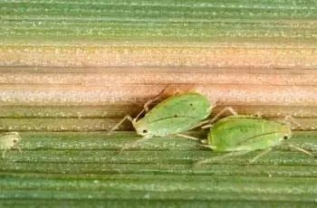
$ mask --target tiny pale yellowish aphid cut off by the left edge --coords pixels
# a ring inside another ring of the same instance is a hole
[[[0,135],[0,149],[3,150],[2,157],[5,158],[6,150],[16,148],[19,152],[22,152],[19,147],[16,147],[22,137],[17,132],[7,132]]]

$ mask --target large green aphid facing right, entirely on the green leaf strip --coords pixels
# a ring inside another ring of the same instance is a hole
[[[223,159],[228,156],[241,156],[249,152],[263,149],[264,151],[255,156],[250,162],[255,162],[261,156],[270,152],[275,146],[287,145],[293,149],[313,156],[311,152],[301,147],[295,147],[285,140],[292,137],[290,123],[265,120],[263,118],[250,117],[245,115],[233,115],[218,120],[210,128],[207,145],[215,152],[229,152],[223,156],[214,156],[198,162],[196,165],[209,163],[214,159]],[[293,121],[294,122],[294,121]]]

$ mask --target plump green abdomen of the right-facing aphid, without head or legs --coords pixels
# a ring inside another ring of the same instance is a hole
[[[281,125],[259,118],[223,118],[210,129],[208,141],[216,151],[256,150],[278,145]]]

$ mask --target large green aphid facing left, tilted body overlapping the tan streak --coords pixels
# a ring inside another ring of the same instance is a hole
[[[176,135],[198,140],[196,137],[180,133],[205,124],[206,121],[204,120],[214,108],[205,96],[197,92],[186,92],[171,96],[149,110],[149,103],[158,98],[159,96],[149,100],[136,118],[131,118],[127,115],[115,127],[110,129],[112,131],[118,128],[124,120],[129,119],[138,135],[142,136],[139,140],[122,147],[121,151],[151,137]],[[144,111],[147,112],[145,116],[139,118]]]

